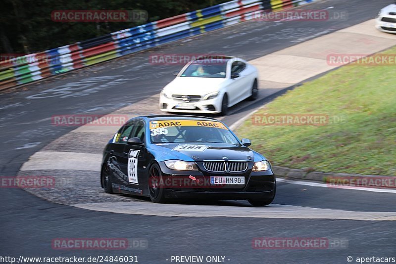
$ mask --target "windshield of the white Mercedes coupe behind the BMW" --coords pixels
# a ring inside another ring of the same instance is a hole
[[[180,77],[226,78],[227,59],[192,62]]]

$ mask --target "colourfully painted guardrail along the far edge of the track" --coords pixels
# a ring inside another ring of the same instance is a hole
[[[0,90],[41,80],[314,0],[233,0],[113,32],[95,39],[0,62]]]

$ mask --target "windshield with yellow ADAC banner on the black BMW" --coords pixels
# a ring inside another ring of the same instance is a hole
[[[161,120],[150,122],[151,143],[212,142],[239,144],[218,121]]]

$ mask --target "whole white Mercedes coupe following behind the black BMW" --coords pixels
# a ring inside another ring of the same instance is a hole
[[[175,73],[176,74],[176,73]],[[210,56],[190,61],[162,89],[164,112],[227,114],[229,107],[258,95],[257,69],[245,60]]]

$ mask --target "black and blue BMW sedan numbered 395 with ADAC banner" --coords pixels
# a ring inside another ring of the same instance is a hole
[[[169,198],[248,200],[270,204],[271,164],[222,122],[198,116],[140,116],[125,123],[103,153],[100,182],[107,193]]]

